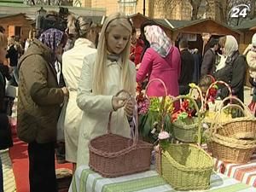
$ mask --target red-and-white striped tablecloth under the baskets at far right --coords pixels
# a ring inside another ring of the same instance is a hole
[[[236,178],[241,183],[255,187],[256,191],[256,154],[245,164],[225,163],[221,160],[214,160],[214,169],[227,177]]]

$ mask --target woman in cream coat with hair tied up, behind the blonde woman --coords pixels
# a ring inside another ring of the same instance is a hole
[[[69,99],[67,106],[62,108],[62,113],[66,110],[64,120],[64,135],[66,160],[73,163],[73,171],[77,162],[77,150],[79,143],[79,127],[82,119],[82,110],[77,106],[78,82],[81,75],[84,56],[96,53],[96,25],[92,20],[80,16],[73,20],[76,25],[74,31],[78,39],[74,43],[73,49],[67,50],[62,55],[62,73],[67,88]]]

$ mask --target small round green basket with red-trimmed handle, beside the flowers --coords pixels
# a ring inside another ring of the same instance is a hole
[[[177,96],[176,99],[174,99],[172,102],[175,102],[177,101],[177,99],[181,99],[181,98],[183,98],[183,96]],[[191,96],[186,96],[186,98],[189,99],[190,101],[194,101],[194,99]],[[195,101],[194,103],[195,103],[195,108],[197,108],[196,111],[199,116],[201,115],[201,113]],[[194,123],[190,125],[185,125],[185,123],[179,120],[172,122],[173,135],[177,140],[184,143],[195,143],[195,136],[198,131],[199,122],[197,118],[195,117],[192,117],[192,118],[193,118],[192,121]]]

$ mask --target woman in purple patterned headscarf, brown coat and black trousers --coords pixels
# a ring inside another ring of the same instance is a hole
[[[56,124],[68,91],[59,88],[54,65],[64,45],[64,33],[50,28],[34,39],[18,64],[17,133],[28,143],[31,192],[57,191]]]

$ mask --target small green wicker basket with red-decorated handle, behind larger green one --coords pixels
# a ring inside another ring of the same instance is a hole
[[[183,97],[180,97],[180,98],[183,98]],[[185,98],[189,98],[189,101],[193,100],[192,97],[190,96]],[[180,115],[180,114],[177,114],[177,115]],[[173,120],[172,121],[173,136],[178,141],[181,141],[184,143],[195,143],[195,136],[197,134],[199,124],[200,123],[198,121],[198,117],[193,117],[193,116],[187,117],[185,119]]]

